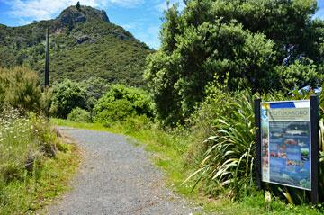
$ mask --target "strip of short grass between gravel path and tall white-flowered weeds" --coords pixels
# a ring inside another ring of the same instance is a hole
[[[42,164],[40,177],[15,180],[2,188],[0,214],[34,214],[68,190],[68,182],[76,172],[78,153],[73,145],[63,144],[66,152]]]

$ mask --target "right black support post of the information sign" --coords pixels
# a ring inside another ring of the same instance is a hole
[[[311,95],[311,202],[319,202],[319,97]]]

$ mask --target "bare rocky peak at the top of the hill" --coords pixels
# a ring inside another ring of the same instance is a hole
[[[57,18],[62,25],[75,25],[78,22],[86,22],[91,20],[102,20],[110,22],[107,13],[94,9],[90,6],[81,6],[79,9],[76,6],[67,7]]]

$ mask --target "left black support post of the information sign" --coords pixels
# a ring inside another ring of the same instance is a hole
[[[256,182],[257,188],[262,189],[261,181],[261,99],[256,99],[254,103],[255,122],[256,122]]]

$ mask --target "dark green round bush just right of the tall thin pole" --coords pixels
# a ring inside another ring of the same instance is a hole
[[[76,107],[87,109],[86,91],[82,85],[68,79],[55,85],[50,113],[67,119],[67,114]]]

